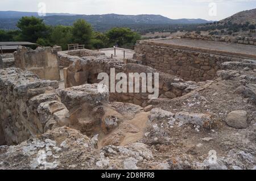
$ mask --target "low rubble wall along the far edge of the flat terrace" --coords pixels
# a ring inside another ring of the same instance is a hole
[[[185,33],[185,35],[181,37],[197,39],[197,40],[222,41],[227,43],[256,45],[256,37],[230,36],[230,35],[200,35],[198,33]]]

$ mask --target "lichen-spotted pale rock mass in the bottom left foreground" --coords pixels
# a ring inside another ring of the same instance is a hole
[[[61,127],[3,149],[0,169],[145,169],[152,158],[150,148],[142,143],[98,150],[79,131]]]

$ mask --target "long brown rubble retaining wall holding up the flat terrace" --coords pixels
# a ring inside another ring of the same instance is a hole
[[[142,60],[143,65],[168,74],[176,75],[185,81],[207,81],[216,77],[220,65],[226,61],[242,61],[243,58],[224,53],[192,48],[179,48],[172,44],[139,41],[135,47],[134,58]]]

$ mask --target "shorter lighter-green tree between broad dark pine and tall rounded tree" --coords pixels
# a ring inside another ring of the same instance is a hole
[[[68,44],[72,43],[72,27],[61,25],[53,27],[49,39],[51,45],[59,45],[63,50],[67,50]]]

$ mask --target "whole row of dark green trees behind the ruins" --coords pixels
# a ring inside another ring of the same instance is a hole
[[[105,33],[95,32],[90,23],[77,19],[72,26],[47,26],[43,19],[23,17],[18,30],[0,30],[0,41],[30,41],[43,46],[60,45],[64,50],[68,44],[83,44],[85,48],[107,48],[113,45],[134,45],[141,35],[129,28],[112,28]]]

